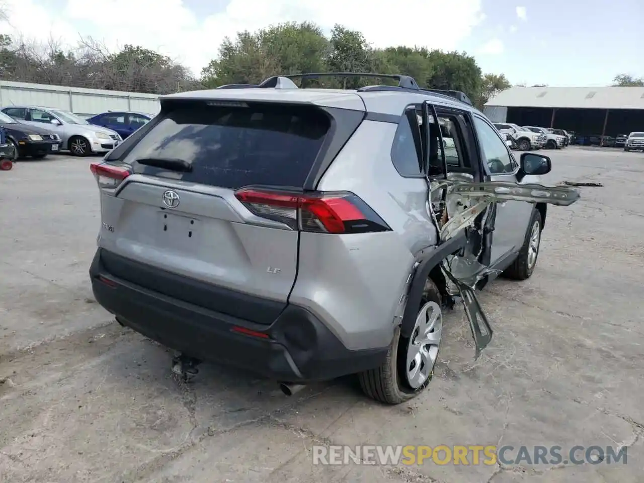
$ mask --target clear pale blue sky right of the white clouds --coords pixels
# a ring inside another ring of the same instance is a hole
[[[504,72],[513,83],[550,86],[607,85],[620,73],[644,77],[644,1],[531,4],[483,1],[486,19],[462,48],[475,53],[484,71]],[[525,21],[517,17],[517,5],[526,5]],[[502,53],[477,53],[493,39],[502,42]]]

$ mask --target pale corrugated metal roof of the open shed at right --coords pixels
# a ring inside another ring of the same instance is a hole
[[[508,108],[644,109],[644,87],[513,87],[486,106]]]

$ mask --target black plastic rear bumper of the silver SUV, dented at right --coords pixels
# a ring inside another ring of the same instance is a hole
[[[110,274],[101,252],[90,268],[98,303],[136,332],[192,357],[289,383],[361,372],[386,357],[386,347],[348,350],[316,316],[295,305],[266,326],[135,285]]]

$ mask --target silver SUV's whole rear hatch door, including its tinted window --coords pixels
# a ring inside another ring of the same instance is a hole
[[[102,189],[104,266],[167,296],[272,323],[296,277],[299,232],[255,216],[234,193],[301,191],[330,126],[310,104],[167,101],[144,135],[107,158],[133,174]]]

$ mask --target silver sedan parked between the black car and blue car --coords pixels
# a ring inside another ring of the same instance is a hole
[[[90,124],[82,117],[62,109],[5,106],[0,111],[23,124],[41,127],[46,125],[62,139],[61,149],[68,149],[74,156],[108,153],[122,142],[116,131]]]

